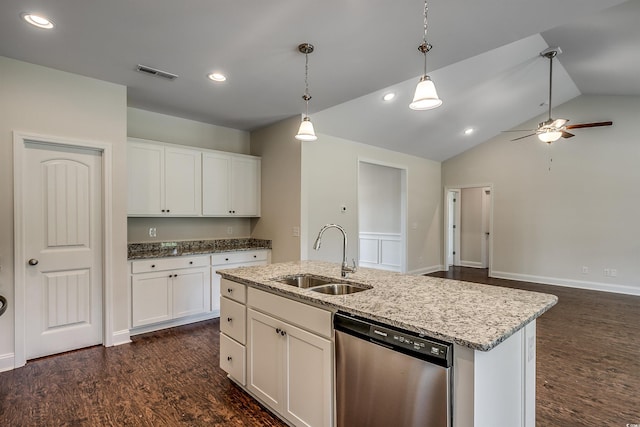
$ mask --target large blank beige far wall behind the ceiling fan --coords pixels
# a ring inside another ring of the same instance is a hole
[[[493,184],[494,276],[640,294],[639,113],[637,96],[583,95],[554,116],[613,126],[551,146],[503,134],[443,163],[443,185]]]

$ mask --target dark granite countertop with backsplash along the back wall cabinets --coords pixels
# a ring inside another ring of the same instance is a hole
[[[127,245],[127,259],[204,255],[217,252],[249,251],[256,249],[271,249],[271,240],[243,238],[129,243]]]

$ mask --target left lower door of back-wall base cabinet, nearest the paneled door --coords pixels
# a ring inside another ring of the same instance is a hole
[[[169,271],[136,274],[131,278],[131,323],[148,325],[171,319]]]

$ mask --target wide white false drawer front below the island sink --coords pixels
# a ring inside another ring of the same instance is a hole
[[[247,305],[266,314],[331,338],[331,312],[281,296],[249,288]]]

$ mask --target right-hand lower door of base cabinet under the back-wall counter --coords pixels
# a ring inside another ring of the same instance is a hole
[[[173,273],[173,317],[205,313],[211,309],[209,268],[178,270]]]

